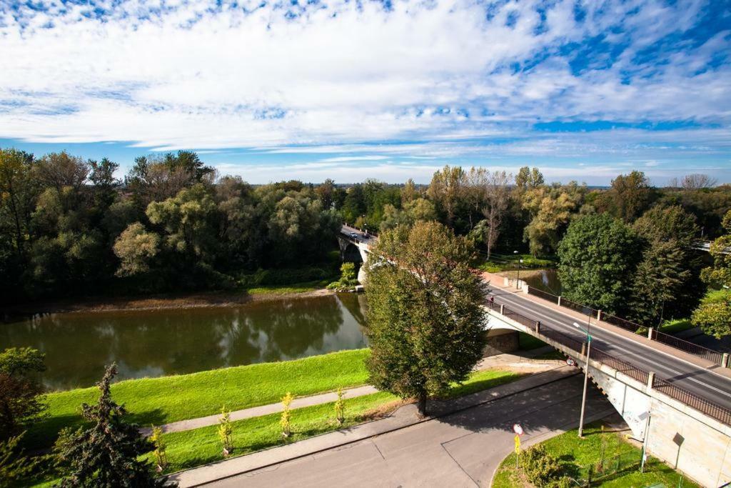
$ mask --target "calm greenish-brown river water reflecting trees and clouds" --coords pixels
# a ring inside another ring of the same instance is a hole
[[[121,380],[363,348],[364,304],[364,296],[344,293],[239,307],[36,315],[0,323],[0,350],[44,352],[50,389],[91,386],[112,361]]]

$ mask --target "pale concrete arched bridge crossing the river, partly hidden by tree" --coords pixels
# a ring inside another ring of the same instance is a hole
[[[375,239],[365,230],[344,226],[338,236],[341,254],[365,263]],[[362,273],[363,267],[359,280]],[[560,297],[531,291],[524,282],[487,273],[483,278],[488,288],[488,348],[515,349],[517,333],[523,332],[561,351],[582,369],[588,362],[592,381],[634,437],[646,436],[650,454],[706,487],[731,482],[728,355],[663,337],[652,329],[646,335],[636,334],[637,324],[567,300],[562,303]],[[586,327],[590,320],[587,361],[586,334],[573,324]]]

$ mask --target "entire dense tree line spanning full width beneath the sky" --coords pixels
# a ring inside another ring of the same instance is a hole
[[[252,186],[192,151],[139,157],[122,180],[116,170],[108,159],[0,151],[6,301],[230,287],[257,269],[322,260],[342,221],[375,231],[437,220],[488,258],[558,253],[569,295],[646,321],[694,307],[705,285],[690,243],[721,235],[731,208],[731,187],[707,176],[658,188],[639,171],[608,189],[548,184],[527,166],[515,175],[445,166],[428,185]],[[587,241],[599,237],[601,251]]]

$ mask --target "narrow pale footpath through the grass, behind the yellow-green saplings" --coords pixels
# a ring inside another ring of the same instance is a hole
[[[480,371],[484,369],[511,369],[516,372],[541,372],[553,369],[561,365],[561,361],[540,361],[531,359],[531,356],[538,356],[539,354],[553,350],[553,348],[538,348],[534,350],[525,351],[524,356],[518,356],[515,354],[499,354],[497,356],[491,356],[489,358],[482,359],[477,364],[475,370]],[[343,390],[343,397],[345,399],[363,397],[363,395],[370,395],[377,393],[378,389],[374,386],[365,385],[358,386],[356,388],[347,388]],[[322,403],[335,402],[338,399],[336,391],[330,391],[327,393],[311,395],[309,397],[298,397],[292,400],[292,409],[311,407],[312,405],[321,405]],[[259,407],[244,408],[242,410],[235,410],[230,413],[231,421],[243,420],[244,418],[259,417],[262,415],[268,415],[270,413],[281,412],[281,402],[270,403],[269,405],[260,405]],[[187,420],[181,420],[177,422],[171,422],[170,424],[164,424],[160,426],[162,432],[181,432],[183,430],[199,429],[200,427],[208,427],[209,425],[216,425],[219,423],[220,413],[215,415],[209,415],[205,417],[189,418]],[[143,435],[150,435],[152,429],[150,427],[143,427],[140,429]]]

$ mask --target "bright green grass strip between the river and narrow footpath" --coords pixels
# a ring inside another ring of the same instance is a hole
[[[368,379],[363,359],[368,354],[367,349],[347,350],[295,361],[126,380],[115,383],[112,394],[132,413],[132,421],[162,425],[219,413],[224,404],[239,410],[279,402],[287,391],[306,396],[363,385]],[[98,396],[95,387],[48,394],[49,415],[29,430],[29,448],[50,446],[61,428],[80,425],[80,405],[95,402]]]

